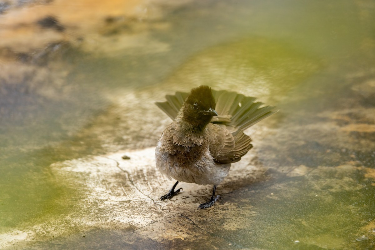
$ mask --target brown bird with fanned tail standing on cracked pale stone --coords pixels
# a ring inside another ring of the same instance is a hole
[[[182,188],[175,190],[179,182],[213,185],[210,200],[197,209],[209,208],[220,198],[215,196],[216,187],[228,175],[231,163],[253,147],[243,131],[277,112],[255,100],[200,85],[190,93],[176,92],[166,95],[166,102],[156,102],[173,120],[157,142],[156,168],[177,181],[160,201],[180,193]]]

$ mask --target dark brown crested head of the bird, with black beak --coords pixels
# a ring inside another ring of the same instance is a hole
[[[215,106],[210,87],[201,85],[193,88],[183,105],[183,120],[196,130],[204,129],[211,118],[217,116]]]

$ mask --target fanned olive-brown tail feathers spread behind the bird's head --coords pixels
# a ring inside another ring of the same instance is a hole
[[[226,90],[212,90],[212,94],[216,100],[215,110],[219,114],[212,118],[212,123],[225,124],[245,130],[258,121],[278,112],[273,106],[261,107],[264,103],[255,102],[255,97]],[[156,105],[174,120],[188,95],[189,93],[186,92],[176,92],[175,95],[167,95],[166,102],[156,102]]]

